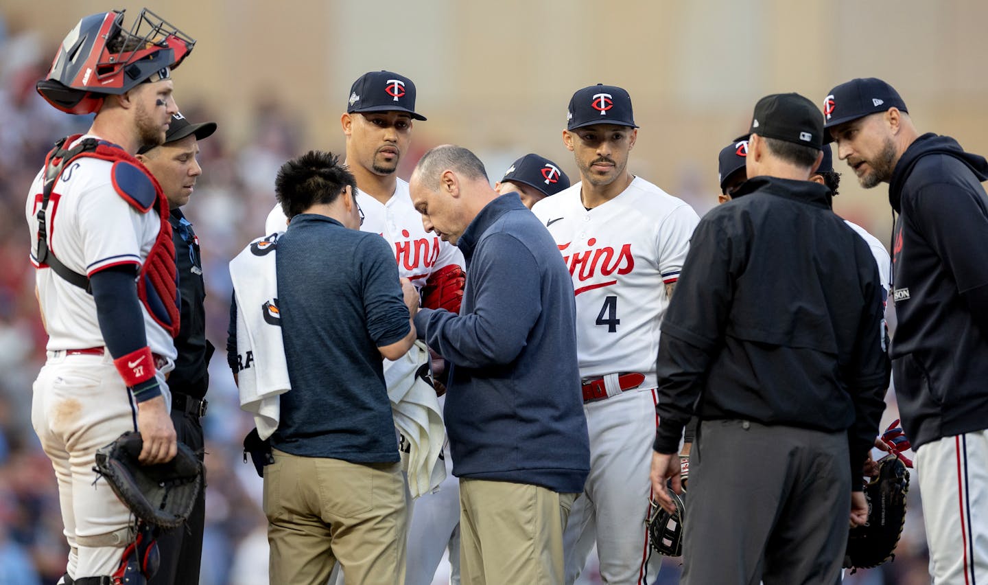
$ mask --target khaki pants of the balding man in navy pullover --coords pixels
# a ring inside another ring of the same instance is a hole
[[[562,531],[576,496],[526,483],[460,479],[461,582],[562,583]]]

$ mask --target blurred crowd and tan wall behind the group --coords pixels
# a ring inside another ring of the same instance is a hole
[[[25,198],[57,138],[90,119],[47,106],[35,92],[57,43],[88,14],[142,4],[92,0],[4,0],[0,6],[0,585],[54,583],[66,544],[54,474],[31,428],[32,382],[46,337],[28,261]],[[203,249],[207,336],[220,348],[210,366],[204,585],[267,583],[261,479],[242,460],[252,426],[240,412],[222,349],[230,282],[227,262],[262,235],[278,167],[310,148],[343,151],[339,116],[351,83],[390,69],[418,86],[408,178],[429,147],[474,150],[493,181],[512,160],[538,152],[577,177],[560,130],[573,91],[593,83],[626,88],[641,129],[629,168],[701,214],[716,203],[718,150],[743,133],[762,95],[798,91],[822,103],[834,85],[858,76],[892,83],[921,131],[953,135],[988,154],[988,5],[702,3],[633,0],[173,0],[148,2],[197,39],[175,74],[176,98],[192,122],[215,121],[201,141],[200,178],[184,210]],[[836,158],[836,157],[835,157]],[[838,171],[843,162],[835,160]],[[891,217],[884,186],[864,192],[845,172],[835,207],[887,245]],[[890,313],[892,313],[890,308]],[[894,314],[890,314],[894,327]],[[896,418],[889,392],[887,424]],[[657,583],[676,583],[667,559]],[[599,582],[592,561],[583,583]],[[910,491],[895,561],[859,571],[860,585],[928,583],[918,482]],[[445,582],[445,567],[437,582]]]

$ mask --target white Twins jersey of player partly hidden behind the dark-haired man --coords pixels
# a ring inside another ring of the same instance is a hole
[[[422,214],[412,207],[407,182],[398,179],[386,204],[358,189],[357,205],[364,212],[361,231],[376,233],[391,243],[398,275],[410,280],[416,289],[421,290],[435,270],[451,264],[463,267],[463,254],[458,248],[422,227]],[[285,226],[285,213],[276,206],[268,214],[265,232],[285,231]]]

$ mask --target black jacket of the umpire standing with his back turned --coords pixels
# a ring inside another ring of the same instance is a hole
[[[874,257],[822,185],[738,195],[700,220],[662,320],[655,450],[675,453],[694,413],[848,430],[860,475],[889,374]]]

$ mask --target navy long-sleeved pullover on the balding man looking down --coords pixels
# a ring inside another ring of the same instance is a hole
[[[446,426],[457,477],[578,493],[590,441],[576,361],[573,281],[517,194],[470,222],[460,314],[421,309],[420,337],[452,370]]]

